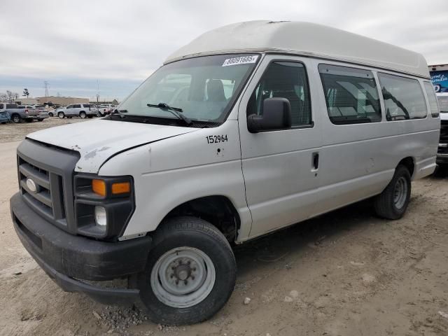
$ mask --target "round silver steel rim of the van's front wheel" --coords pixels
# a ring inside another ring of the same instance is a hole
[[[202,302],[214,287],[214,263],[193,247],[173,248],[162,255],[151,271],[151,288],[160,302],[188,308]]]

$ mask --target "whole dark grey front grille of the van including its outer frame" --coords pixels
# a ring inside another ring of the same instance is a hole
[[[45,220],[75,234],[73,174],[79,153],[29,139],[22,141],[17,153],[23,200]],[[36,190],[27,186],[27,179]]]

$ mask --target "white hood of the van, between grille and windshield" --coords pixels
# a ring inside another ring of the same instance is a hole
[[[52,127],[28,134],[27,139],[77,151],[80,159],[75,172],[96,174],[116,153],[196,130],[199,129],[102,119]]]

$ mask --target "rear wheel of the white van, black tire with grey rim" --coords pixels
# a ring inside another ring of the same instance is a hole
[[[391,182],[374,200],[377,216],[399,219],[405,214],[411,197],[411,175],[405,166],[399,165]]]

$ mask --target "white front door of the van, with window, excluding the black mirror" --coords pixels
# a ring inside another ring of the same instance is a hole
[[[307,68],[312,60],[267,55],[239,105],[241,161],[253,224],[249,237],[297,223],[314,214],[321,127],[314,113]],[[311,76],[310,76],[311,77]],[[314,85],[315,86],[315,85]],[[247,116],[262,115],[266,98],[290,102],[292,127],[251,133]]]

